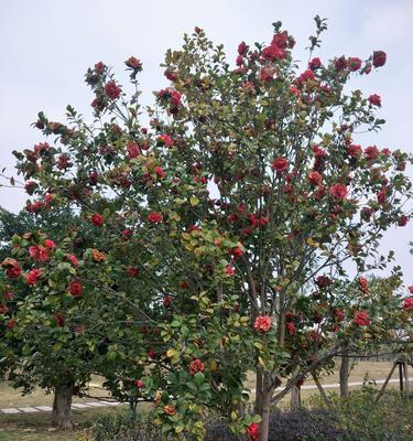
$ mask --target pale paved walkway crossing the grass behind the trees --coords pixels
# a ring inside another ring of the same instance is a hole
[[[410,378],[410,381],[412,378]],[[376,381],[377,385],[382,385],[384,383],[383,379],[377,379]],[[389,383],[399,383],[399,379],[390,379]],[[349,383],[348,386],[362,386],[363,381],[354,381]],[[325,389],[337,389],[340,387],[338,383],[332,383],[332,384],[326,384],[323,385]],[[301,387],[302,389],[316,389],[317,386],[315,385],[304,385]],[[283,390],[283,387],[279,387],[276,390]],[[252,392],[256,390],[252,389]],[[81,410],[81,409],[90,409],[90,408],[96,408],[96,407],[107,407],[107,406],[121,406],[126,405],[126,402],[118,402],[118,401],[104,401],[104,400],[96,400],[96,401],[86,401],[86,402],[74,402],[72,405],[72,410]],[[51,406],[33,406],[33,407],[12,407],[9,409],[0,409],[0,413],[4,415],[15,415],[15,413],[36,413],[36,412],[51,412],[53,409]]]

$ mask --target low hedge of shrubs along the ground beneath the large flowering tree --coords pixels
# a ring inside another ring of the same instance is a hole
[[[332,407],[319,398],[311,409],[271,413],[269,441],[412,441],[413,400],[396,392],[374,402],[369,388],[355,391],[348,399],[330,395]],[[205,441],[238,441],[225,421],[206,422]],[[160,441],[155,426],[131,415],[101,418],[93,428],[93,441]],[[191,439],[188,438],[188,441]]]

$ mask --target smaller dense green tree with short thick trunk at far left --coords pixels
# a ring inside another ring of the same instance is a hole
[[[53,424],[72,429],[72,397],[84,394],[91,374],[98,372],[107,342],[105,336],[89,337],[83,326],[88,312],[70,301],[74,290],[72,295],[66,289],[59,292],[54,279],[59,271],[75,272],[79,265],[76,255],[83,255],[88,240],[96,243],[97,237],[90,230],[83,232],[79,218],[68,208],[36,215],[14,215],[2,209],[0,235],[3,257],[10,256],[10,250],[15,257],[23,257],[26,251],[29,257],[28,266],[24,259],[22,267],[10,258],[2,263],[6,273],[0,281],[0,314],[4,319],[0,325],[0,374],[23,394],[35,387],[53,392]],[[52,256],[61,260],[55,273],[48,275],[47,283],[54,289],[53,295],[46,298],[43,289],[32,287],[40,277],[39,267],[47,271]],[[12,280],[15,283],[10,283]],[[98,351],[94,351],[94,344]]]

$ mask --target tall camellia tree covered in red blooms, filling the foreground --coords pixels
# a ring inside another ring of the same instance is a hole
[[[272,404],[347,337],[387,332],[366,275],[391,260],[378,254],[383,232],[409,220],[410,158],[357,143],[384,123],[381,99],[347,84],[385,53],[322,62],[316,24],[304,71],[279,22],[270,44],[239,44],[236,68],[196,28],[166,53],[172,84],[155,93],[148,127],[140,61],[126,62],[131,95],[97,63],[86,74],[94,122],[72,107],[66,123],[40,114],[55,144],[14,153],[34,189],[28,209],[73,206],[98,239],[74,266],[64,240],[42,262],[30,247],[43,238],[15,238],[6,277],[87,311],[91,351],[107,338],[107,386],[153,401],[165,437],[203,439],[210,409],[264,441]],[[401,299],[389,304],[392,326],[411,320]]]

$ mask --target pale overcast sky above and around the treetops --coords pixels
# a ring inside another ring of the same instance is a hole
[[[0,165],[12,174],[11,151],[43,140],[30,127],[39,110],[52,120],[63,119],[67,104],[89,111],[84,74],[98,61],[122,78],[123,61],[139,57],[149,104],[151,92],[167,84],[159,67],[164,52],[178,47],[195,25],[224,43],[232,60],[240,41],[269,42],[271,23],[281,20],[297,42],[295,57],[306,60],[316,14],[328,19],[322,60],[388,53],[384,67],[354,83],[382,97],[380,116],[387,120],[383,131],[359,143],[413,152],[413,0],[0,0]],[[0,205],[8,209],[19,211],[25,200],[19,190],[0,189]],[[382,248],[395,249],[406,283],[413,283],[411,239],[413,222],[390,232]]]

